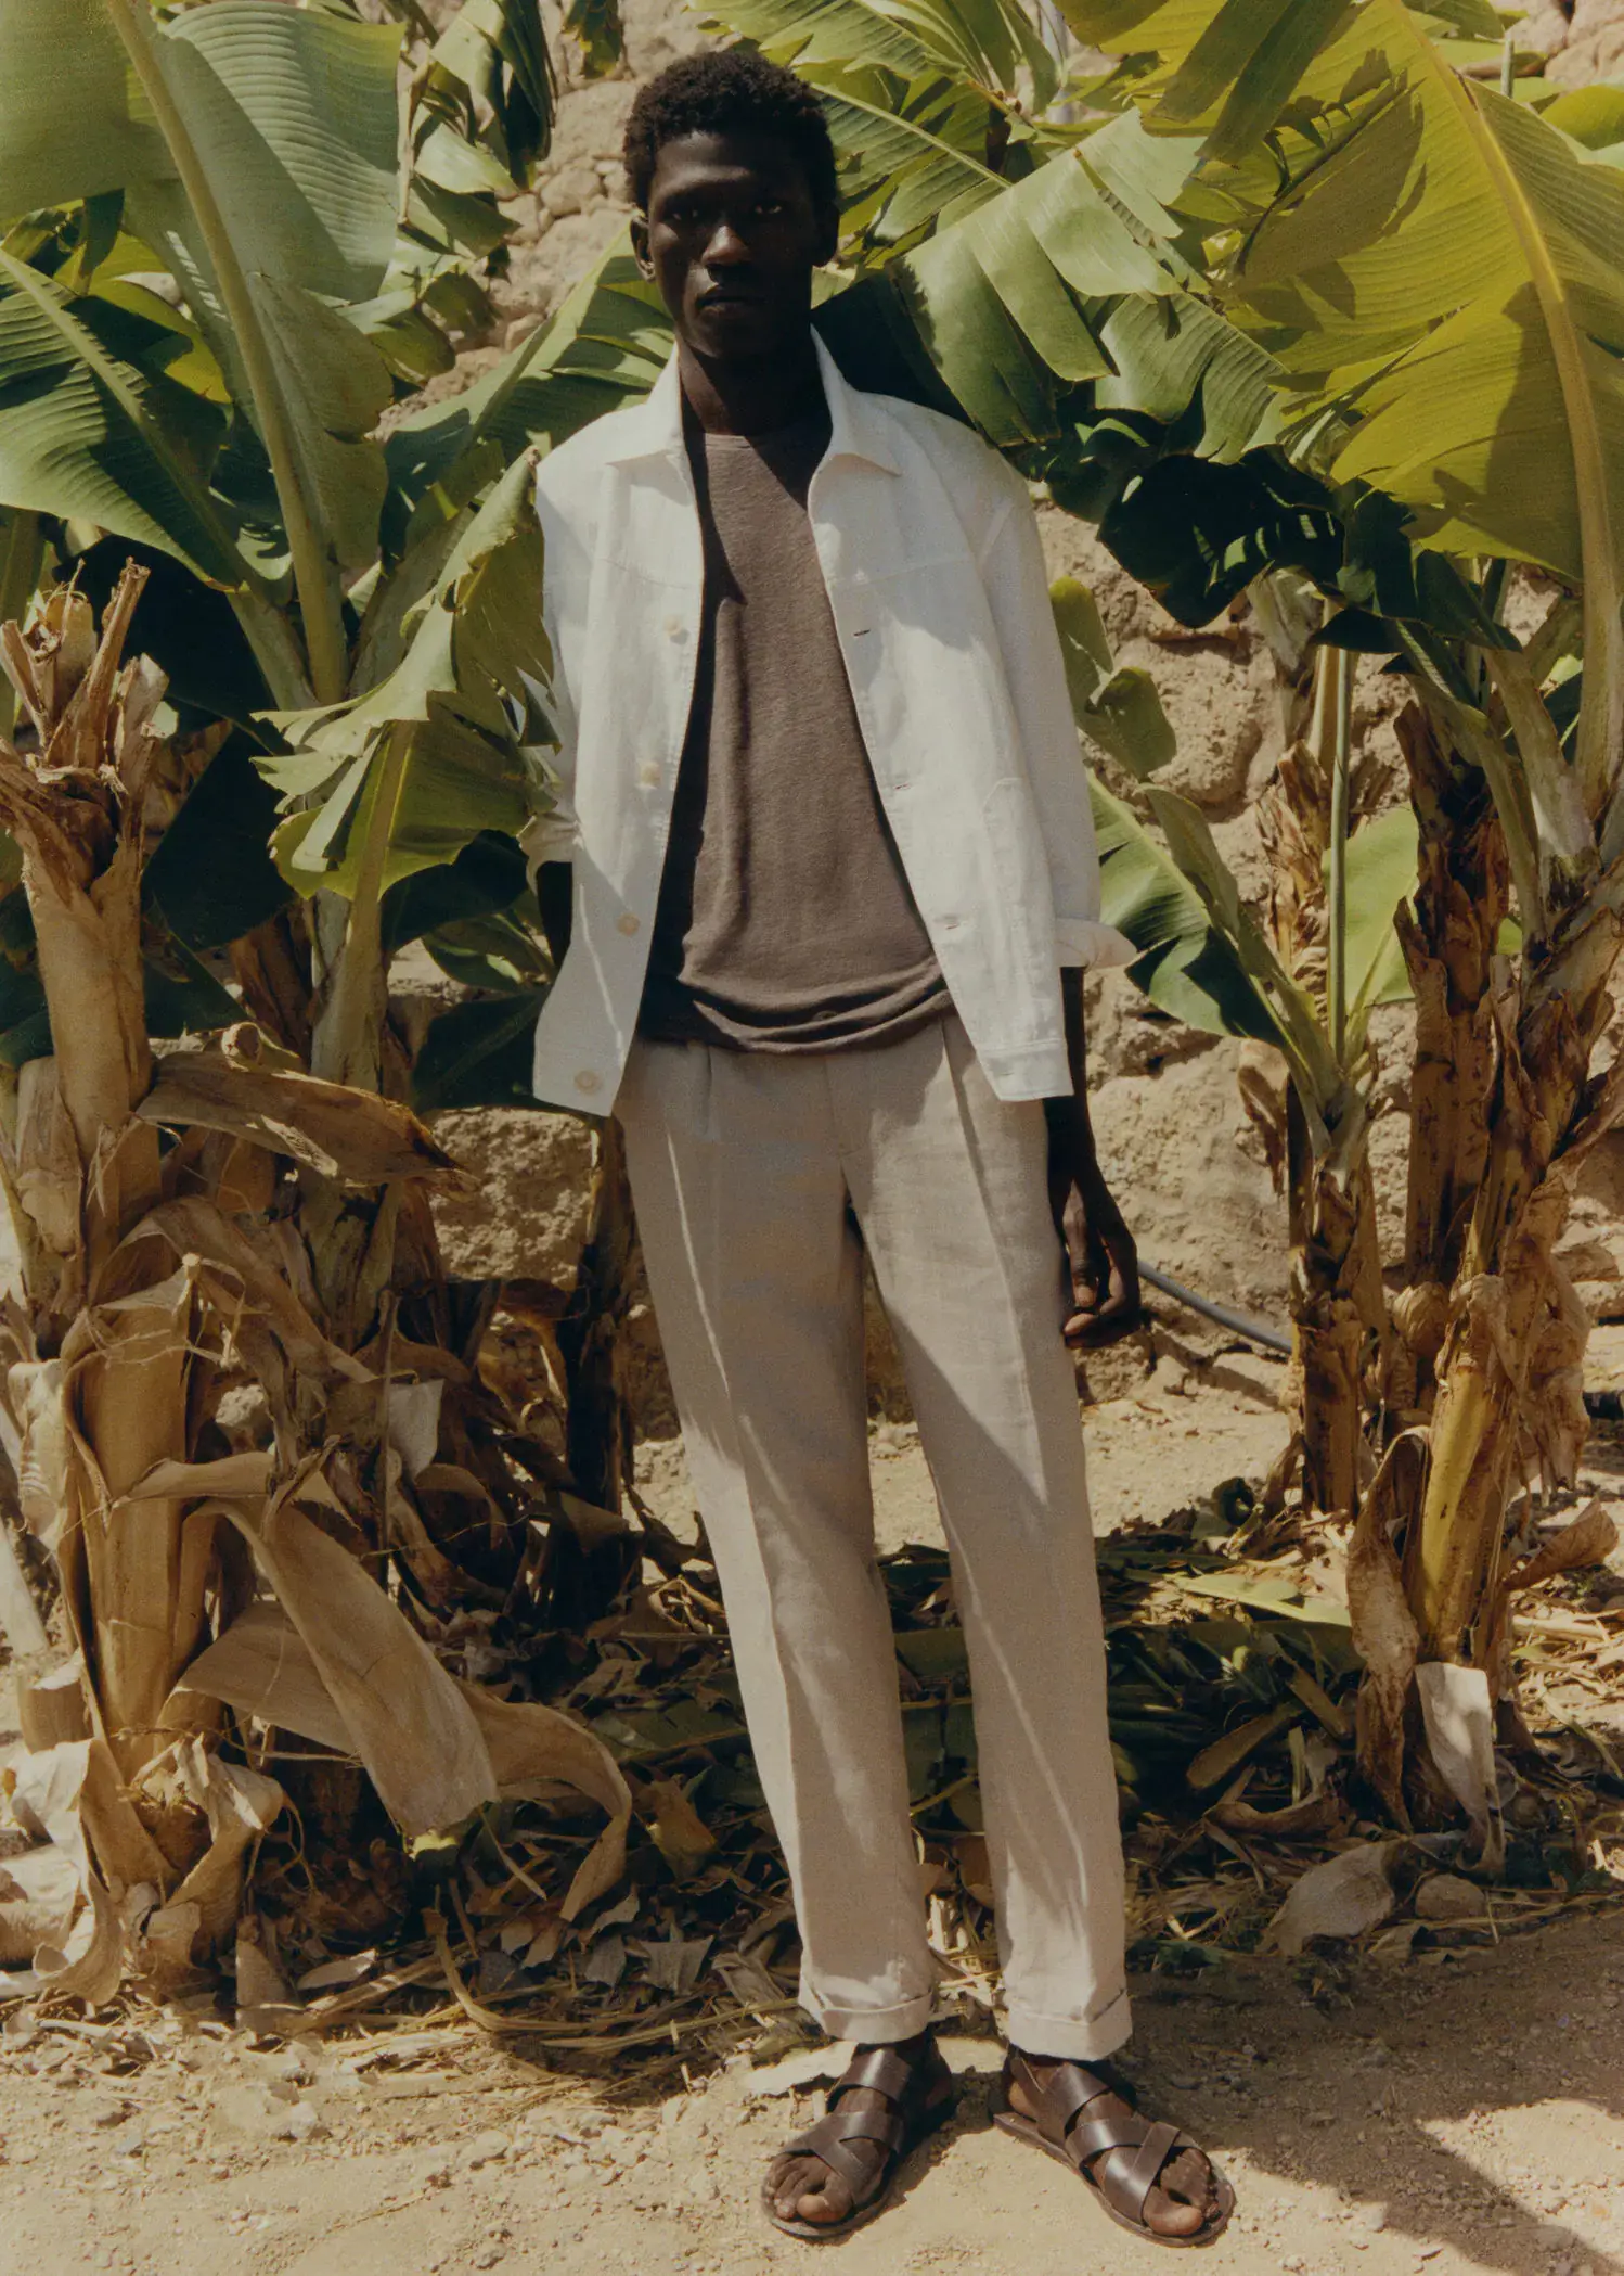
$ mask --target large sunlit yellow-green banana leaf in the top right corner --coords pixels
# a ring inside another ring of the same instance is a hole
[[[1217,173],[1237,228],[1228,303],[1292,373],[1333,480],[1408,505],[1444,553],[1583,583],[1574,769],[1594,810],[1624,749],[1624,175],[1556,102],[1458,73],[1403,0],[1328,25],[1267,121],[1276,16],[1274,0],[1069,9],[1115,52],[1155,50],[1151,121],[1192,123],[1199,93],[1217,132],[1215,107],[1244,96],[1269,132],[1267,157]],[[1485,32],[1460,11],[1449,27]],[[1190,102],[1169,112],[1174,89]]]

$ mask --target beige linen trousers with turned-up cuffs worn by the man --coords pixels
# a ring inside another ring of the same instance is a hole
[[[867,1247],[953,1555],[1010,2037],[1112,2053],[1121,1841],[1042,1104],[996,1099],[946,1017],[817,1056],[637,1042],[616,1113],[805,2005],[905,2039],[937,1976],[873,1559]]]

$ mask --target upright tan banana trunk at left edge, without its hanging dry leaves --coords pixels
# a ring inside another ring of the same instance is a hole
[[[0,819],[23,849],[52,1058],[23,1067],[11,1188],[32,1227],[14,1395],[25,1407],[25,1504],[45,1534],[84,1657],[89,1737],[107,1775],[91,1837],[125,1882],[184,1869],[202,1821],[130,1803],[175,1739],[161,1712],[196,1650],[214,1559],[184,1502],[127,1495],[187,1452],[193,1288],[161,1250],[127,1247],[161,1202],[159,1133],[136,1115],[152,1083],[141,986],[141,808],[161,740],[161,676],[123,665],[146,571],[125,571],[100,640],[89,603],[57,592],[7,671],[36,737],[0,744]]]

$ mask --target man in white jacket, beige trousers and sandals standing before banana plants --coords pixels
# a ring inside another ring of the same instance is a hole
[[[942,2121],[935,1971],[873,1564],[862,1252],[969,1643],[1010,2021],[1001,2124],[1140,2235],[1233,2199],[1105,2058],[1128,2035],[1083,1438],[1062,1334],[1137,1316],[1083,1088],[1089,801],[1024,485],[848,387],[817,98],[741,50],[641,91],[632,225],[678,335],[541,467],[573,938],[535,1090],[614,1113],[803,1939],[857,2055],[773,2162],[844,2235]],[[1074,1297],[1055,1227],[1074,1229]]]

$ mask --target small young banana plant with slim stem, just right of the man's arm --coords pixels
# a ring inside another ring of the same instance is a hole
[[[1353,767],[1349,655],[1321,644],[1312,717],[1281,769],[1290,799],[1274,794],[1290,824],[1290,858],[1276,867],[1294,888],[1290,917],[1276,894],[1274,922],[1260,922],[1201,810],[1155,783],[1171,735],[1144,674],[1112,667],[1083,587],[1062,580],[1051,599],[1078,728],[1137,781],[1133,801],[1092,781],[1105,917],[1140,949],[1128,976],[1192,1026],[1271,1045],[1287,1072],[1281,1156],[1306,1491],[1312,1507],[1351,1516],[1362,1377],[1387,1334],[1367,1149],[1369,1015],[1408,992],[1392,924],[1415,890],[1415,824],[1360,797],[1369,785]]]

